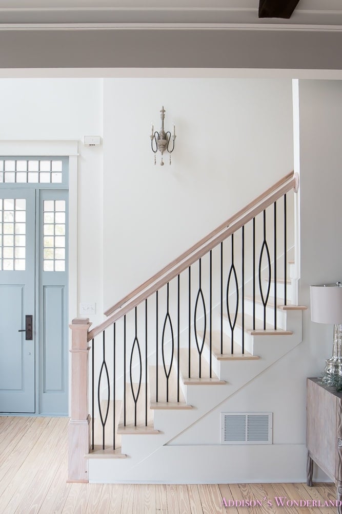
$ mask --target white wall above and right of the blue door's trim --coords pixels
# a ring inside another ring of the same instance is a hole
[[[75,140],[78,158],[79,301],[103,313],[102,149],[86,148],[84,135],[102,135],[102,79],[1,79],[2,140]],[[70,201],[73,201],[71,198]]]

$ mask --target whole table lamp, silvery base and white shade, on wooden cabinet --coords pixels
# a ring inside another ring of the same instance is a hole
[[[332,357],[325,374],[342,379],[342,287],[336,284],[310,286],[311,321],[334,325]]]

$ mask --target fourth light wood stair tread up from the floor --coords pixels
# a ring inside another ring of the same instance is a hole
[[[225,380],[220,380],[212,371],[210,377],[209,363],[202,355],[201,376],[199,377],[199,355],[197,348],[190,351],[190,377],[189,377],[189,348],[179,350],[179,368],[183,382],[186,385],[214,385],[225,384]]]

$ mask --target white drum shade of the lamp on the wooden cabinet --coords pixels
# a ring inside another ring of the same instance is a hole
[[[342,323],[342,287],[336,284],[310,286],[311,321]]]

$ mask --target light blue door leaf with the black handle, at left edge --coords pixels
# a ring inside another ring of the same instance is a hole
[[[0,191],[0,412],[35,412],[35,193]],[[33,316],[26,340],[25,316]]]

